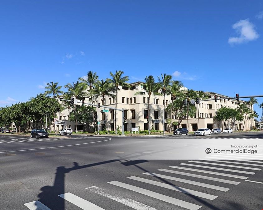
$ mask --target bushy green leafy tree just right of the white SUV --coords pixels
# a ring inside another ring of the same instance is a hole
[[[72,110],[70,112],[69,118],[70,120],[75,120],[75,116],[77,116],[77,122],[83,124],[83,131],[90,131],[90,127],[93,123],[92,113],[95,108],[92,106],[80,106],[76,110]],[[77,111],[77,113],[75,113]]]

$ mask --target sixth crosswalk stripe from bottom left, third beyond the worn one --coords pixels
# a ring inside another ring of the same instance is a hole
[[[168,179],[168,180],[183,182],[183,183],[187,183],[187,184],[193,184],[193,185],[200,186],[200,187],[216,189],[216,190],[220,190],[220,191],[224,191],[224,192],[227,192],[228,190],[230,190],[229,188],[225,188],[225,187],[220,187],[220,186],[216,186],[216,185],[212,185],[212,184],[205,184],[202,182],[196,182],[196,181],[191,181],[191,180],[180,179],[180,178],[173,177],[173,176],[166,176],[166,175],[155,174],[155,173],[150,173],[150,172],[146,172],[143,174],[155,176],[155,177],[160,177],[160,178],[164,178],[164,179]]]

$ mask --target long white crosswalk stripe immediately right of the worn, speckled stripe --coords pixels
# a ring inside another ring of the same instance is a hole
[[[118,187],[122,187],[125,189],[135,191],[135,192],[143,194],[143,195],[147,195],[147,196],[152,197],[152,198],[156,198],[158,200],[165,201],[167,203],[174,204],[176,206],[187,208],[190,210],[197,210],[197,209],[202,207],[202,206],[198,206],[198,205],[193,204],[193,203],[189,203],[189,202],[182,201],[182,200],[179,200],[176,198],[172,198],[172,197],[169,197],[167,195],[160,194],[160,193],[155,193],[151,190],[143,189],[143,188],[136,187],[136,186],[133,186],[130,184],[125,184],[125,183],[118,182],[118,181],[112,181],[112,182],[108,182],[108,183],[113,184],[113,185],[118,186]]]

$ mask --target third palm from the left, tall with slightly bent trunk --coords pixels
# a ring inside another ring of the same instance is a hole
[[[94,85],[98,82],[97,72],[93,73],[93,71],[88,71],[86,79],[79,77],[79,81],[80,81],[80,84],[83,90],[88,89],[89,91],[88,98],[89,98],[89,101],[92,103],[92,99],[93,99],[92,89],[94,89]],[[95,116],[94,116],[95,113],[94,112],[95,110],[92,112],[92,117],[93,117],[94,131],[96,133]]]

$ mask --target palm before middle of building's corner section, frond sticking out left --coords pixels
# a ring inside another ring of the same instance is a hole
[[[149,122],[148,131],[149,131],[149,135],[150,135],[150,128],[151,128],[150,127],[150,118],[149,118],[149,115],[150,115],[150,98],[151,98],[152,94],[159,95],[159,93],[158,93],[159,85],[158,85],[158,83],[155,82],[154,77],[152,75],[150,75],[149,77],[146,76],[144,78],[144,80],[145,80],[145,83],[142,84],[142,85],[143,85],[146,93],[149,96],[147,119],[148,119],[148,122]],[[145,95],[145,91],[136,92],[134,95]]]

